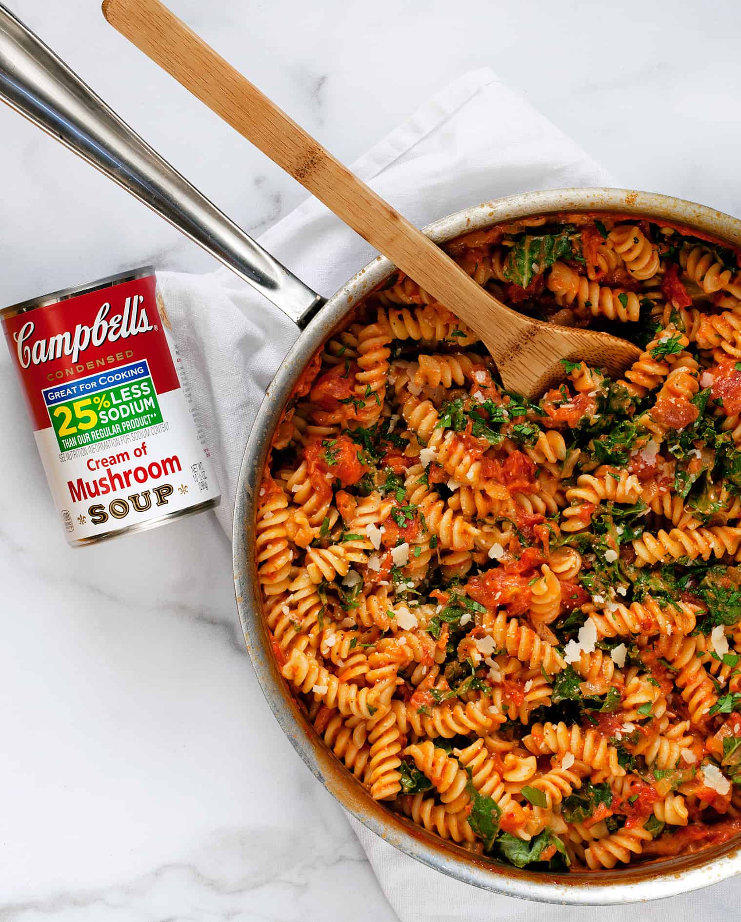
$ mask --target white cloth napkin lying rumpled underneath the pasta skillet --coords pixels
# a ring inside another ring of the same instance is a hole
[[[531,189],[612,185],[612,178],[489,70],[456,80],[399,125],[353,170],[418,226],[462,207]],[[260,242],[314,290],[331,295],[374,255],[316,199]],[[215,456],[223,499],[218,518],[231,534],[241,455],[274,373],[298,336],[288,318],[227,269],[207,276],[160,275],[196,411]],[[279,730],[276,727],[276,733]],[[477,890],[402,855],[350,820],[402,922],[591,922],[594,909],[546,907]],[[730,917],[729,881],[712,892],[659,904],[603,908],[608,920],[689,919],[700,907]],[[737,905],[737,904],[736,904]]]

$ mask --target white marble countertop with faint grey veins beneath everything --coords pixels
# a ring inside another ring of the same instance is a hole
[[[97,0],[10,3],[248,231],[301,200],[128,47]],[[619,182],[741,215],[736,0],[171,6],[348,162],[489,65]],[[0,302],[147,262],[212,265],[5,109],[0,138]],[[266,708],[213,516],[68,550],[2,353],[0,407],[0,920],[393,919]]]

